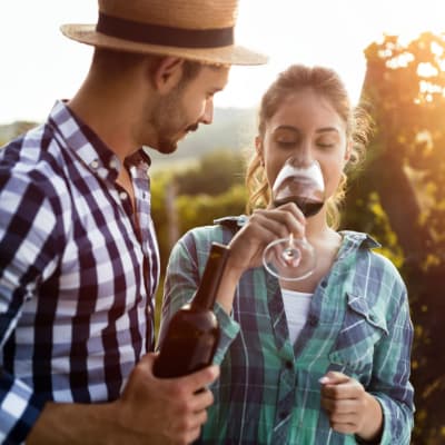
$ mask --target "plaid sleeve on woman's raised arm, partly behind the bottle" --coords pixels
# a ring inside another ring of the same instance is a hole
[[[166,335],[167,326],[171,317],[189,303],[199,286],[199,281],[207,260],[210,243],[206,248],[196,245],[196,239],[191,233],[182,237],[172,248],[164,286],[162,316],[159,329],[159,343]],[[199,257],[198,258],[198,253]],[[215,304],[215,315],[220,328],[220,339],[214,363],[219,364],[222,360],[231,342],[239,332],[239,325],[236,323],[219,305]]]

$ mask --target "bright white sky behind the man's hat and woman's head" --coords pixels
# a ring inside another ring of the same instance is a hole
[[[443,4],[444,0],[240,0],[236,40],[268,55],[269,62],[234,67],[215,106],[256,106],[277,73],[296,62],[334,68],[357,101],[366,71],[364,49],[384,33],[409,41],[423,31],[445,31]],[[76,92],[92,49],[65,38],[59,27],[96,20],[96,0],[0,0],[0,125],[42,121],[56,99]]]

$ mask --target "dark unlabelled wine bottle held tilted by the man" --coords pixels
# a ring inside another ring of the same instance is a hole
[[[229,248],[211,244],[201,283],[190,304],[171,318],[154,365],[157,377],[180,377],[211,364],[219,342],[212,307],[227,263]]]

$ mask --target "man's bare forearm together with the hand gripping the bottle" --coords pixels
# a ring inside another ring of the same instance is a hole
[[[156,354],[135,367],[121,398],[111,403],[52,403],[27,437],[29,445],[186,445],[194,442],[214,402],[207,386],[219,375],[209,366],[186,377],[152,374]]]

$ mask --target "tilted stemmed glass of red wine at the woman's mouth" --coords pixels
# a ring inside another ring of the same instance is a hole
[[[325,201],[325,182],[316,160],[290,157],[275,179],[271,198],[275,207],[295,202],[305,217],[316,215]],[[267,271],[283,280],[299,280],[315,269],[314,247],[306,238],[288,238],[271,241],[265,249],[263,263]]]

